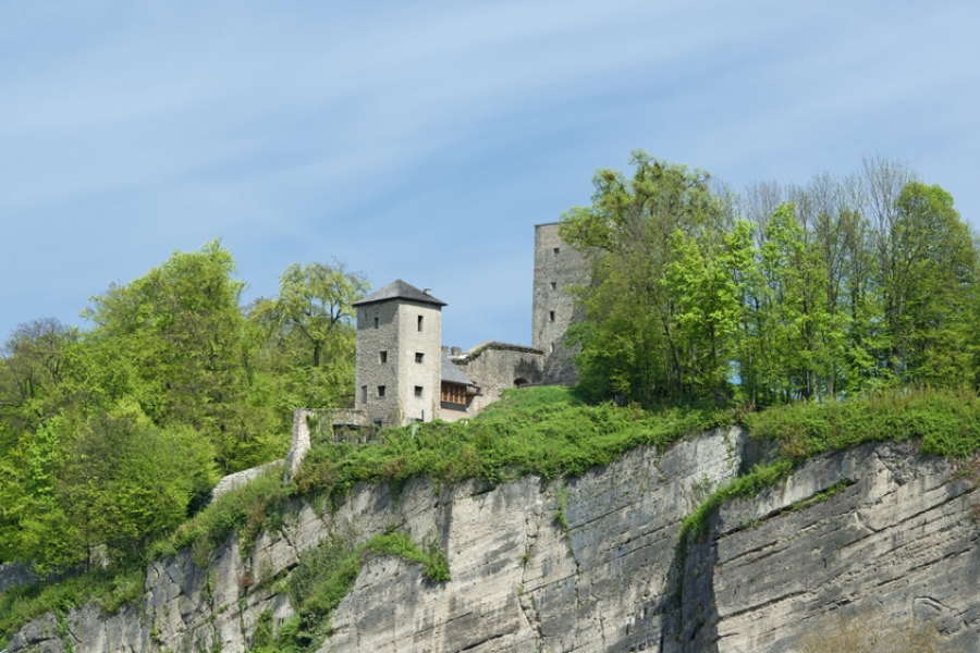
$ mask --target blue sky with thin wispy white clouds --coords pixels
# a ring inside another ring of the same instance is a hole
[[[980,3],[0,0],[0,338],[220,236],[530,341],[534,224],[629,151],[739,190],[907,161],[980,225]]]

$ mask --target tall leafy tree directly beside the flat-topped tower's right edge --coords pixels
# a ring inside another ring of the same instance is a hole
[[[710,249],[730,217],[708,174],[642,151],[632,163],[629,181],[597,172],[592,205],[562,217],[562,238],[586,252],[592,268],[591,284],[577,291],[585,320],[571,337],[581,345],[576,362],[592,397],[681,399],[691,392],[685,385],[690,343],[678,322],[678,297],[663,283],[677,256],[675,233]]]

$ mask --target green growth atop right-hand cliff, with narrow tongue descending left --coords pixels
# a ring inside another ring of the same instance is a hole
[[[752,438],[776,444],[776,458],[719,488],[687,516],[682,537],[703,533],[721,504],[755,496],[820,454],[886,441],[916,442],[923,454],[960,461],[980,453],[980,397],[968,390],[907,390],[791,404],[748,414],[742,421]]]

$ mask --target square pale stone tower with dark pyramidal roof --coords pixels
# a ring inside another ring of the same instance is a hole
[[[437,416],[443,306],[428,291],[402,280],[354,303],[354,405],[375,424],[402,426]]]

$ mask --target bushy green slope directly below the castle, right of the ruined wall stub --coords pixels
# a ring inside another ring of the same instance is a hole
[[[678,438],[731,423],[731,412],[612,404],[588,406],[567,389],[512,389],[468,422],[427,422],[387,429],[365,446],[314,447],[295,478],[295,491],[329,497],[358,482],[428,477],[500,482],[534,473],[577,476],[608,465],[641,444],[669,446]]]

